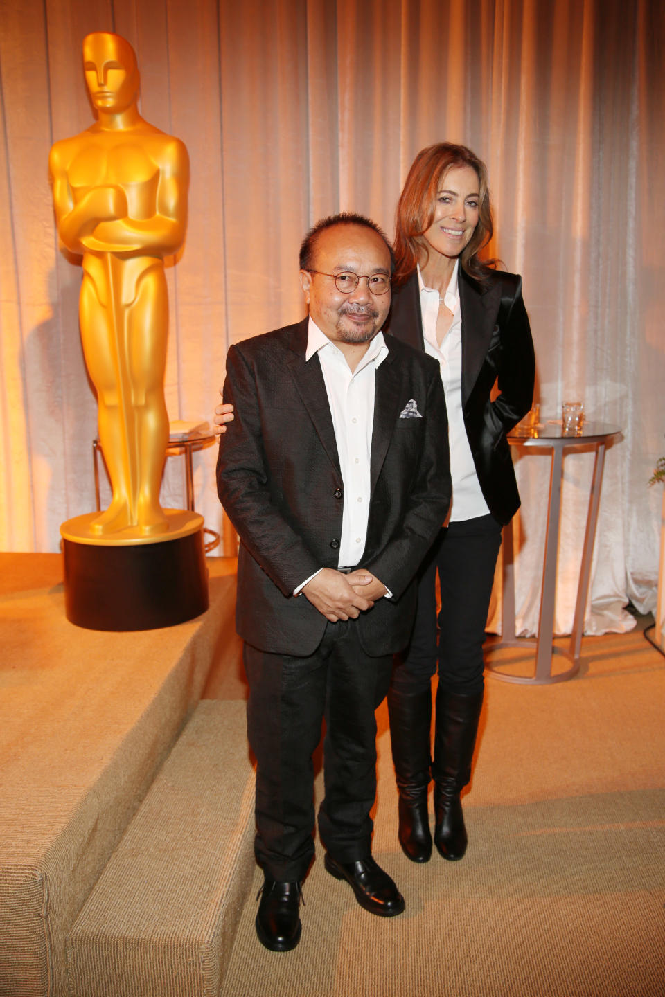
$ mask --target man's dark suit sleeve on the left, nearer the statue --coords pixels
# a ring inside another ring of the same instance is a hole
[[[223,397],[235,418],[219,440],[217,495],[254,560],[284,595],[291,595],[321,564],[272,501],[258,386],[237,346],[228,350]]]

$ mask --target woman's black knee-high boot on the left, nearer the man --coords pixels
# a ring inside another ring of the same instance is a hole
[[[430,785],[430,686],[407,693],[391,686],[388,693],[390,741],[400,794],[400,844],[408,858],[426,862],[432,854],[432,831],[427,809]]]

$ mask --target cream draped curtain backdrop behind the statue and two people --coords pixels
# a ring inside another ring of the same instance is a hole
[[[541,415],[562,398],[623,438],[608,451],[587,632],[656,599],[665,450],[665,99],[660,0],[0,0],[0,547],[56,550],[94,507],[96,402],[81,267],[58,245],[47,159],[93,121],[90,31],[135,47],[142,111],[191,160],[184,250],[167,270],[171,419],[210,419],[229,343],[304,313],[297,250],[341,209],[393,231],[414,155],[471,146],[490,168],[493,246],[522,273]],[[196,507],[219,528],[215,449]],[[537,628],[546,458],[517,461],[517,625]],[[565,461],[556,629],[574,606],[588,455]],[[164,500],[183,503],[179,462]]]

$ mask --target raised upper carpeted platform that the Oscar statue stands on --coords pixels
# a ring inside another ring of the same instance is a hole
[[[209,563],[202,616],[110,634],[65,618],[58,555],[2,555],[3,997],[68,993],[66,934],[232,632],[234,562]]]

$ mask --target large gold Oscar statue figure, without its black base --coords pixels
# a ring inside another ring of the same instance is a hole
[[[169,531],[160,505],[168,441],[164,258],[184,239],[189,164],[183,144],[139,114],[129,42],[95,32],[83,59],[98,120],[53,146],[49,170],[60,238],[83,255],[81,337],[113,494],[105,511],[78,518],[88,542],[136,543]]]

